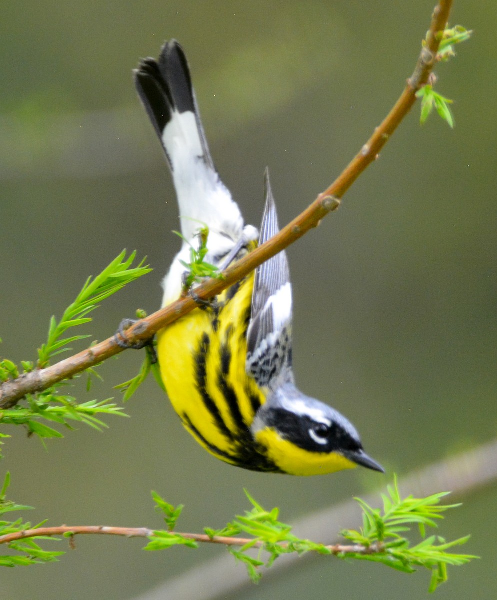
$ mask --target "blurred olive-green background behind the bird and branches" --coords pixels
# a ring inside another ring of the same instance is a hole
[[[165,39],[180,41],[213,158],[246,221],[259,223],[269,166],[286,223],[390,109],[434,4],[4,3],[2,355],[34,359],[50,316],[60,316],[86,277],[122,248],[147,255],[155,270],[98,310],[92,338],[112,335],[138,307],[159,306],[178,218],[161,148],[132,85],[138,59],[157,56]],[[49,440],[47,451],[22,430],[7,440],[1,471],[12,472],[10,496],[36,507],[33,522],[160,527],[153,489],[185,503],[179,529],[198,532],[245,508],[243,487],[292,521],[495,436],[497,8],[454,4],[451,24],[475,30],[457,58],[436,69],[437,91],[454,99],[454,130],[435,117],[420,127],[415,107],[341,209],[288,251],[297,382],[351,419],[387,476],[304,479],[233,469],[195,444],[149,382],[126,406],[131,419],[107,419],[103,434],[80,427]],[[135,374],[141,358],[126,352],[108,361],[105,382],[88,399],[118,395],[112,386]],[[79,389],[81,399],[85,393]],[[438,598],[495,598],[495,491],[494,484],[465,496],[444,524],[448,539],[471,533],[464,551],[481,560],[452,569]],[[96,536],[76,545],[58,564],[5,569],[1,598],[146,598],[225,553],[149,554],[140,540]],[[427,580],[379,565],[306,560],[236,597],[369,598],[374,590],[410,600],[424,598]],[[184,597],[191,597],[188,578]]]

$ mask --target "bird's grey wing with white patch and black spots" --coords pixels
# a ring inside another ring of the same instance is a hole
[[[259,244],[278,233],[278,217],[264,173],[266,206]],[[291,286],[284,251],[267,260],[255,271],[251,319],[247,330],[246,372],[263,388],[275,389],[293,382],[291,370]]]

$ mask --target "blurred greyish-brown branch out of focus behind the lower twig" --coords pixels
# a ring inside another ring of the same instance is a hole
[[[441,490],[451,490],[451,502],[459,502],[463,496],[475,493],[482,488],[494,485],[497,481],[497,438],[466,452],[454,454],[436,463],[420,467],[399,479],[401,494],[426,497]],[[378,493],[363,497],[367,504],[378,506]],[[344,526],[358,529],[361,526],[360,510],[357,502],[349,499],[320,511],[304,515],[293,524],[292,532],[300,538],[319,539],[323,544],[335,543],[336,532]],[[302,567],[302,560],[317,560],[317,554],[307,558],[288,554],[285,560],[276,560],[267,577],[285,577],[293,569]],[[188,569],[182,574],[171,573],[167,579],[147,591],[147,600],[164,598],[188,598],[195,600],[215,600],[218,598],[239,598],[243,590],[252,586],[246,572],[224,553]],[[143,596],[140,600],[143,600]],[[138,596],[136,597],[138,600]]]

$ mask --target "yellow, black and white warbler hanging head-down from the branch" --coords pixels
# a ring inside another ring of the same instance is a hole
[[[260,234],[244,223],[213,164],[177,41],[166,42],[157,60],[142,59],[134,81],[179,205],[182,247],[162,281],[164,307],[185,293],[192,250],[203,244],[204,261],[222,271],[278,233],[278,219],[266,169]],[[243,469],[307,476],[359,465],[384,472],[347,418],[297,389],[291,329],[290,274],[281,251],[159,331],[161,377],[183,427],[214,457]]]

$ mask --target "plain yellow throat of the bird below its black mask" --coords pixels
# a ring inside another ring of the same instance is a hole
[[[357,466],[336,452],[324,454],[303,450],[269,428],[258,431],[255,440],[267,449],[269,460],[288,475],[327,475]]]

